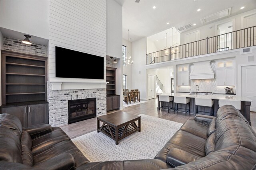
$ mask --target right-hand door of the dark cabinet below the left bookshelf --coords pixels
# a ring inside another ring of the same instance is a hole
[[[28,105],[28,127],[48,123],[48,104]]]

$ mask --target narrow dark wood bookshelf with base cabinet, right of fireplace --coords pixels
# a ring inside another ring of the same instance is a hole
[[[107,111],[119,109],[120,95],[116,94],[116,68],[106,67]]]

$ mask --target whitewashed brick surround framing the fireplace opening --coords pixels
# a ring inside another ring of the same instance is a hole
[[[49,102],[49,124],[68,124],[68,100],[96,98],[96,116],[106,114],[106,89],[51,90],[47,84]]]

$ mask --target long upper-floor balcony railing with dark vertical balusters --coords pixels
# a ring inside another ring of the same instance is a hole
[[[256,45],[256,26],[149,53],[146,64],[161,63]]]

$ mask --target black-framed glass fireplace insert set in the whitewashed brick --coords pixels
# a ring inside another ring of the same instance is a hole
[[[68,124],[96,117],[96,98],[68,101]]]

